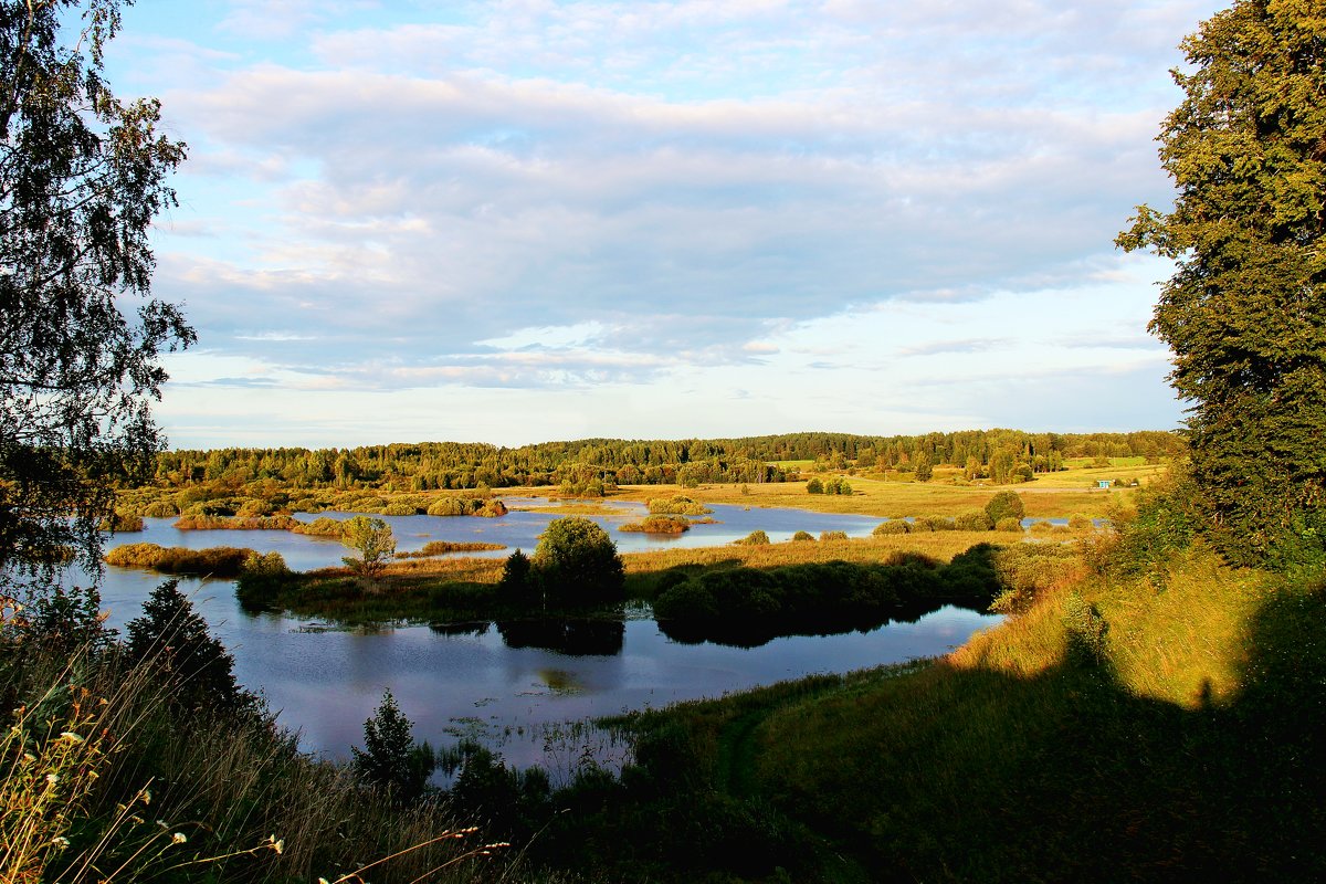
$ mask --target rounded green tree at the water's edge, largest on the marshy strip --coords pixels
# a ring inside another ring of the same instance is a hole
[[[534,547],[534,567],[548,600],[560,604],[613,602],[626,583],[617,545],[587,518],[554,518]]]

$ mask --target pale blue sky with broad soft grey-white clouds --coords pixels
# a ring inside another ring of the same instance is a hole
[[[1171,429],[1209,0],[139,0],[171,447]]]

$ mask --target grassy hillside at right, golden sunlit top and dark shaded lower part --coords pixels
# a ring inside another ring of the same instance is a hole
[[[1066,619],[1089,606],[1099,655]],[[805,827],[862,880],[1319,880],[1323,635],[1319,583],[1197,547],[1163,591],[1065,573],[934,664],[639,726],[688,729],[711,787]]]

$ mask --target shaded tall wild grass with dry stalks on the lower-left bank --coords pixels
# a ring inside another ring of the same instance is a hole
[[[0,645],[0,880],[465,881],[485,846],[435,803],[402,811],[301,754],[264,712],[184,713],[179,676],[119,645]],[[390,857],[382,863],[375,860]]]

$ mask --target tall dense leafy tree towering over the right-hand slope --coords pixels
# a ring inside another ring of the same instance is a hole
[[[1191,403],[1207,531],[1241,563],[1305,542],[1321,555],[1326,537],[1323,33],[1302,0],[1237,0],[1204,21],[1159,137],[1174,208],[1139,205],[1116,240],[1175,261],[1150,329]]]

